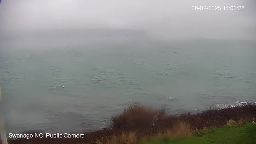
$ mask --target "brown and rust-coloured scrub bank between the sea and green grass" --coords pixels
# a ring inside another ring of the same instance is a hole
[[[84,132],[83,137],[44,137],[9,139],[10,144],[135,144],[154,138],[188,137],[206,128],[219,128],[234,122],[244,125],[256,117],[256,104],[217,109],[211,108],[197,114],[170,114],[166,108],[153,109],[138,102],[128,105],[111,118],[108,128]],[[27,132],[34,134],[36,132]]]

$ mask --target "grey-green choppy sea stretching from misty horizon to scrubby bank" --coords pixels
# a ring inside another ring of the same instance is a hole
[[[256,101],[253,42],[32,43],[1,41],[7,132],[102,128],[134,101],[173,112]]]

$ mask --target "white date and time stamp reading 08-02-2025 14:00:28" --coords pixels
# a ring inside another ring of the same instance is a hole
[[[243,11],[244,6],[192,6],[191,9],[194,11],[217,11],[217,10],[230,10],[230,11]]]

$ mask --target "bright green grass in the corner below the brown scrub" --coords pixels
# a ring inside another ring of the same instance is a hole
[[[256,124],[208,128],[187,138],[162,138],[138,144],[256,144]]]

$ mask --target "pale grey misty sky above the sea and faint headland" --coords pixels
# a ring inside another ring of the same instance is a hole
[[[192,6],[221,6],[192,11]],[[223,6],[244,6],[224,11]],[[2,0],[0,30],[126,28],[158,38],[255,40],[256,0]]]

